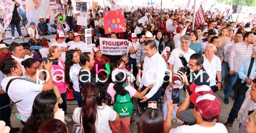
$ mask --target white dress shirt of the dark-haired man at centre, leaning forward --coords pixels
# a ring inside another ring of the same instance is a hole
[[[154,84],[148,94],[145,95],[148,99],[151,98],[163,84],[163,78],[166,72],[166,62],[163,57],[157,52],[150,58],[144,59],[143,75],[140,82],[140,87]]]

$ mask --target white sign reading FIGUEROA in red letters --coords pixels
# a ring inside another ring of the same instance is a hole
[[[125,39],[99,38],[99,45],[102,54],[105,55],[122,55],[128,53],[129,41]]]

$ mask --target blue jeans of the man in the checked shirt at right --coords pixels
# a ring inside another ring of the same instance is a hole
[[[235,75],[234,77],[232,77],[231,75],[227,76],[227,82],[225,86],[225,98],[229,98],[232,88],[236,83],[237,78],[239,78],[239,75],[237,72],[234,72],[234,75]]]

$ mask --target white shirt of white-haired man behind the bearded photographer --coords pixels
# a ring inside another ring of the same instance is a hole
[[[206,70],[207,74],[209,75],[210,86],[216,85],[216,74],[217,71],[221,71],[221,59],[218,56],[213,55],[212,61],[209,60],[204,56],[204,69]]]

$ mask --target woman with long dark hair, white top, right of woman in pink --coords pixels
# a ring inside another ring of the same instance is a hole
[[[75,97],[78,106],[81,107],[81,95],[79,89],[79,70],[82,68],[79,64],[80,56],[75,50],[68,50],[66,52],[65,61],[65,82],[73,87],[73,96]],[[71,79],[70,79],[71,77]]]

